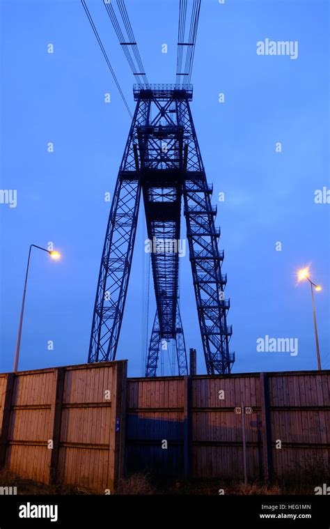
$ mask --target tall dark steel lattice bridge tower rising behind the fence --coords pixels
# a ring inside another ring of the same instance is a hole
[[[114,360],[132,263],[141,191],[155,286],[157,312],[146,376],[156,376],[159,348],[174,340],[179,374],[187,374],[187,354],[178,305],[181,201],[208,374],[230,373],[235,355],[221,274],[220,229],[214,227],[212,185],[207,184],[189,101],[192,86],[134,85],[136,109],[120,164],[93,314],[88,362]]]

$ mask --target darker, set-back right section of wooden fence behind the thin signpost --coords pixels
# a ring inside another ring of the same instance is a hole
[[[242,402],[250,478],[329,468],[330,371],[298,371],[129,378],[127,471],[242,478]]]

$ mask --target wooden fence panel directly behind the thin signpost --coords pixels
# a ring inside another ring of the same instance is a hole
[[[242,477],[242,414],[235,407],[253,408],[246,415],[249,476],[262,471],[261,407],[258,375],[192,378],[192,443],[196,477]]]

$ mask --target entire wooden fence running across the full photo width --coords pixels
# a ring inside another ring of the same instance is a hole
[[[330,371],[127,379],[126,367],[0,374],[0,466],[95,491],[113,489],[124,455],[127,473],[242,478],[244,403],[249,478],[329,468]]]

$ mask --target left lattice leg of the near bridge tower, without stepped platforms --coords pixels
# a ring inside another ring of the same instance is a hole
[[[136,123],[146,124],[147,120],[148,101],[143,101],[136,105],[113,194],[97,282],[88,362],[116,358],[141,195]]]

